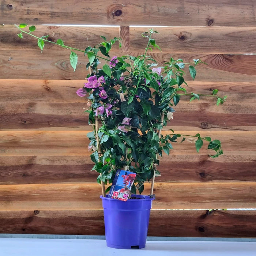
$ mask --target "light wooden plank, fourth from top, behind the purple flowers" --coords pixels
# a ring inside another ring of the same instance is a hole
[[[0,79],[0,102],[85,103],[87,99],[78,97],[75,93],[83,85],[84,80]],[[231,99],[229,98],[225,102],[226,105],[233,102],[239,95],[242,95],[239,102],[243,103],[254,98],[256,94],[256,82],[199,82],[195,80],[189,81],[185,89],[188,93],[197,92],[200,94],[211,94],[212,90],[218,89],[218,94],[221,96],[228,95],[228,97],[231,97]],[[207,99],[209,100],[209,98]],[[251,103],[248,103],[246,108]],[[241,107],[239,106],[237,110]],[[242,111],[244,110],[242,109]],[[252,110],[250,109],[250,111]],[[229,109],[224,108],[221,111],[222,113],[225,113],[224,111],[228,113]],[[42,113],[44,112],[42,111]]]

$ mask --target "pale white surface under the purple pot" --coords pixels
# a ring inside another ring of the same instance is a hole
[[[256,242],[147,241],[143,249],[113,249],[105,240],[0,238],[0,256],[256,256]]]

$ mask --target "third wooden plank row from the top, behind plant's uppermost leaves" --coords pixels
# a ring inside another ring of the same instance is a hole
[[[51,45],[52,46],[52,45]],[[18,46],[17,46],[18,47]],[[88,60],[83,53],[78,53],[78,66],[76,71],[70,65],[69,53],[63,49],[55,49],[54,53],[48,51],[50,46],[41,50],[0,50],[0,72],[2,79],[59,79],[59,80],[83,80],[88,74],[86,64]],[[119,51],[110,52],[110,56],[129,54],[138,56],[143,52]],[[255,82],[256,55],[243,54],[188,54],[188,53],[151,53],[159,65],[163,65],[170,57],[183,59],[184,63],[193,62],[193,59],[201,59],[207,65],[197,65],[196,81],[208,82]],[[102,67],[105,61],[99,65]],[[242,68],[241,68],[242,67]],[[191,81],[189,71],[185,68],[186,81]]]

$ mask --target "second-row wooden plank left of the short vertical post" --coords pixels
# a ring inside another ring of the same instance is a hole
[[[29,26],[23,30],[29,32]],[[78,26],[46,26],[46,25],[36,25],[36,30],[32,33],[38,37],[43,35],[49,35],[48,40],[54,43],[57,42],[59,38],[64,41],[64,44],[71,46],[73,48],[84,50],[87,46],[98,45],[104,42],[104,39],[100,36],[106,37],[110,40],[114,37],[120,36],[120,27],[78,27]],[[129,28],[129,27],[128,27]],[[17,33],[19,29],[15,25],[4,25],[0,26],[0,45],[1,49],[4,50],[14,50],[17,47],[20,50],[33,50],[39,49],[37,46],[37,39],[31,37],[30,35],[23,34],[23,39],[19,38]],[[128,30],[129,34],[129,30]],[[123,35],[123,34],[121,34]],[[121,37],[122,38],[122,37]],[[129,39],[129,37],[128,37]],[[46,46],[45,46],[46,47]],[[56,49],[62,49],[59,45],[54,45],[47,43],[48,50],[54,52]],[[62,49],[64,50],[64,49]],[[118,51],[119,44],[113,44],[112,50]],[[64,50],[68,52],[68,50]]]

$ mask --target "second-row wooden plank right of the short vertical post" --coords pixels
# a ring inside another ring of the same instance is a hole
[[[256,53],[256,27],[157,27],[153,34],[162,52],[172,53]],[[130,51],[143,51],[147,28],[130,28]],[[161,52],[152,47],[153,52]]]

